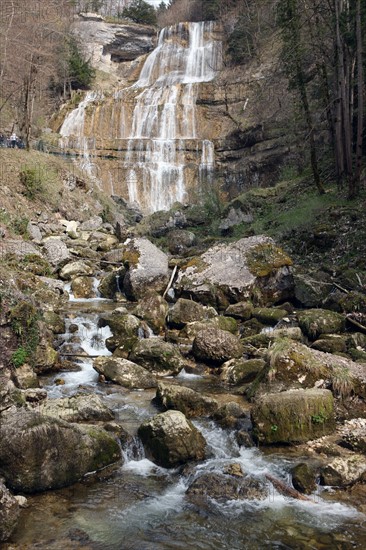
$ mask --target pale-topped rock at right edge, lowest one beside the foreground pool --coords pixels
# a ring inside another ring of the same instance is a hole
[[[321,470],[322,485],[345,487],[366,479],[366,458],[364,455],[338,456]]]

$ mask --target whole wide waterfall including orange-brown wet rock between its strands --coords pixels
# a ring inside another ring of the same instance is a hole
[[[197,95],[220,70],[219,38],[213,22],[163,29],[132,86],[88,92],[65,118],[61,146],[107,192],[146,212],[197,200],[214,168],[212,123]]]

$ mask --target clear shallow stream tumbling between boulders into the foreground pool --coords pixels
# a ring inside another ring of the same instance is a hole
[[[71,301],[62,346],[75,346],[92,356],[108,354],[104,339],[109,329],[98,328],[97,322],[101,312],[114,307],[108,300]],[[232,431],[199,419],[194,423],[206,438],[209,458],[185,468],[184,473],[158,467],[145,457],[136,436],[141,422],[157,412],[151,403],[155,391],[128,391],[100,384],[92,361],[82,358],[79,371],[62,373],[64,385],[56,386],[55,376],[44,378],[49,399],[73,395],[80,386],[97,393],[114,411],[116,420],[135,436],[134,443],[124,450],[124,464],[111,477],[91,477],[69,488],[29,497],[30,506],[23,511],[11,539],[16,548],[364,548],[366,517],[354,507],[335,501],[329,488],[319,488],[312,495],[313,502],[286,498],[271,486],[265,500],[211,499],[202,506],[192,504],[186,490],[202,472],[222,471],[239,463],[254,478],[263,479],[269,473],[289,482],[289,471],[300,457],[286,449],[263,453],[240,447]],[[183,372],[175,381],[215,396],[222,392],[208,376]],[[222,393],[221,398],[225,399]],[[73,534],[78,539],[81,532],[88,537],[87,542],[72,546]],[[68,542],[62,542],[65,540]]]

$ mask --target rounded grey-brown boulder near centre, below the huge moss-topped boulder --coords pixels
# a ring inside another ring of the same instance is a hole
[[[218,328],[209,327],[200,331],[193,341],[192,353],[205,363],[220,365],[243,354],[239,338]]]

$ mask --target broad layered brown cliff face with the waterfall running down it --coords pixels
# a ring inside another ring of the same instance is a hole
[[[89,19],[75,32],[98,91],[57,130],[105,191],[155,211],[196,202],[213,185],[232,198],[274,183],[291,149],[275,44],[233,70],[212,23],[179,24],[158,40],[152,27]]]

